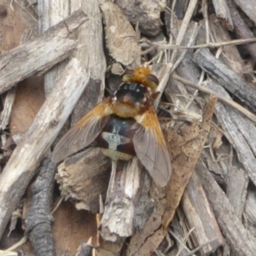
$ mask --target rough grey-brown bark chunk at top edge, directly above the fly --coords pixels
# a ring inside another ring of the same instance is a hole
[[[115,3],[125,14],[133,26],[139,24],[140,31],[148,36],[156,36],[161,29],[160,12],[165,6],[162,6],[152,0],[146,1],[129,1],[117,0]]]

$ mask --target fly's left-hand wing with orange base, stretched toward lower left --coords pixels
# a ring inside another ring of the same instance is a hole
[[[111,98],[108,97],[92,108],[79,122],[74,125],[55,146],[52,160],[57,163],[68,155],[78,152],[92,143],[107,124],[112,114]]]

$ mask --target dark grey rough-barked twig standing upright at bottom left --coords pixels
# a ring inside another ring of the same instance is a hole
[[[38,256],[55,256],[51,224],[55,163],[46,157],[39,168],[38,177],[32,183],[32,201],[26,216],[26,234]],[[45,247],[47,244],[47,247]]]

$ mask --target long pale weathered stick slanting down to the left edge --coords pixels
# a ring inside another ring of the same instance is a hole
[[[29,131],[15,148],[0,176],[0,237],[26,190],[45,152],[78,101],[88,77],[82,73],[79,61],[70,61],[62,79],[57,81]]]

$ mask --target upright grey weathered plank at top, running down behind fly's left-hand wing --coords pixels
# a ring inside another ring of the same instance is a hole
[[[99,0],[72,0],[71,11],[82,9],[90,14],[90,19],[76,33],[79,48],[73,56],[81,61],[81,65],[90,73],[90,81],[79,102],[73,109],[71,125],[81,119],[85,113],[102,101],[105,90],[106,57],[103,48],[102,13]]]

